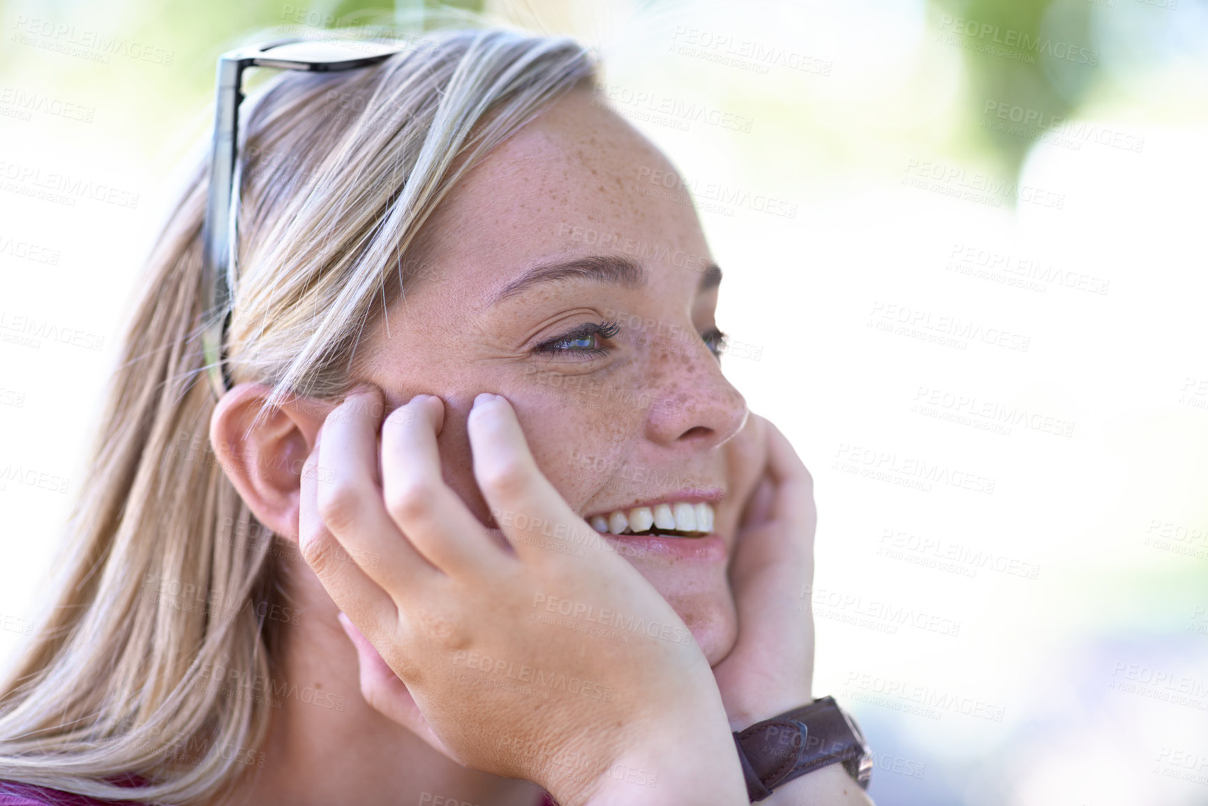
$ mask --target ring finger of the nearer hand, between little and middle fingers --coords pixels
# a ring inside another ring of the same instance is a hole
[[[327,529],[373,581],[393,596],[434,570],[407,541],[385,511],[378,487],[377,425],[382,398],[377,389],[349,395],[323,424],[319,514]],[[368,563],[368,558],[379,562]]]

